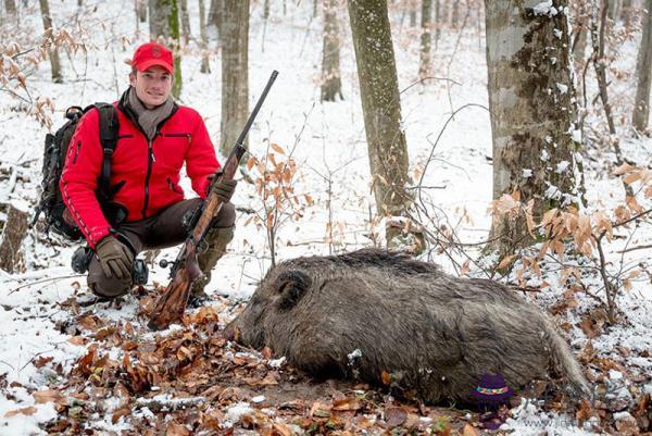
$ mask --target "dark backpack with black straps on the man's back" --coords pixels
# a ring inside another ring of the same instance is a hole
[[[67,154],[68,145],[82,116],[89,110],[97,108],[100,114],[100,144],[103,149],[102,171],[98,179],[98,191],[96,196],[102,207],[102,211],[106,215],[106,209],[111,209],[111,214],[115,215],[115,207],[111,204],[111,198],[116,189],[110,186],[111,178],[111,155],[117,145],[117,110],[109,103],[95,103],[82,109],[78,105],[68,108],[65,111],[66,123],[57,130],[54,135],[46,135],[43,165],[42,165],[42,182],[41,195],[36,215],[32,221],[32,225],[36,224],[41,212],[45,214],[46,228],[45,233],[49,234],[52,229],[55,234],[63,236],[72,241],[77,241],[84,238],[84,234],[77,227],[72,215],[67,211],[61,191],[59,189],[59,179],[63,172],[65,157]],[[117,213],[120,215],[120,212]],[[124,219],[124,216],[122,216]],[[111,221],[122,221],[121,216],[112,216]]]

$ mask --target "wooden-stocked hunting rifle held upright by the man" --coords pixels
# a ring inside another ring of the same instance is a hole
[[[217,170],[215,173],[215,182],[234,178],[240,164],[240,159],[247,151],[244,146],[242,146],[242,142],[244,141],[249,128],[251,127],[251,124],[253,124],[263,101],[265,101],[269,88],[272,88],[274,80],[276,80],[276,76],[278,76],[278,72],[272,72],[272,76],[269,76],[269,80],[267,80],[263,94],[259,98],[253,111],[249,115],[249,120],[247,120],[247,123],[244,124],[244,128],[236,140],[236,145],[224,163],[224,167]],[[171,323],[181,319],[186,311],[186,304],[188,303],[192,284],[203,276],[203,273],[197,263],[197,250],[198,247],[202,246],[205,234],[211,227],[213,219],[220,213],[223,204],[215,191],[215,185],[216,184],[213,183],[213,187],[202,205],[201,215],[199,215],[197,224],[195,224],[195,227],[184,242],[178,257],[174,261],[170,273],[172,281],[167,284],[165,291],[159,297],[159,300],[154,304],[154,309],[150,313],[148,326],[152,329],[167,328]]]

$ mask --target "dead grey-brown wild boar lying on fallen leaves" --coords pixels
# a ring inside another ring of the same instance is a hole
[[[473,402],[482,374],[516,389],[551,370],[591,397],[552,321],[518,294],[378,249],[278,264],[225,335],[317,377],[389,378],[430,403]]]

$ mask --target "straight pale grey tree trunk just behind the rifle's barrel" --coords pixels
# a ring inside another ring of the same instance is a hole
[[[249,0],[224,5],[220,151],[228,155],[249,116]]]

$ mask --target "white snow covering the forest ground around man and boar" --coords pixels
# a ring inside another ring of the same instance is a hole
[[[373,223],[373,196],[369,189],[367,148],[365,144],[355,60],[348,17],[342,14],[343,46],[341,49],[343,101],[319,103],[316,84],[322,59],[322,22],[312,18],[312,2],[288,2],[287,15],[283,15],[280,2],[273,1],[272,16],[264,23],[260,2],[252,8],[250,25],[250,100],[260,95],[273,70],[278,79],[253,125],[249,144],[253,155],[263,158],[269,144],[284,150],[292,150],[298,163],[299,177],[294,185],[297,194],[310,195],[314,200],[303,216],[287,221],[278,231],[277,258],[341,252],[371,245]],[[30,3],[32,4],[32,3]],[[113,101],[127,86],[129,67],[124,63],[134,48],[146,40],[147,23],[140,23],[136,32],[133,2],[86,1],[80,9],[73,2],[51,2],[55,25],[65,23],[77,35],[86,50],[66,55],[62,53],[64,83],[52,84],[49,63],[45,62],[28,77],[30,92],[51,97],[57,112],[54,125],[62,122],[62,114],[72,104],[95,101]],[[198,35],[198,5],[189,2],[191,29]],[[32,5],[23,15],[21,32],[39,34],[41,17],[38,7]],[[491,200],[492,169],[491,129],[487,107],[487,71],[481,29],[468,23],[459,38],[459,30],[442,33],[434,55],[436,78],[416,84],[418,70],[418,38],[405,20],[393,17],[394,49],[399,72],[399,85],[403,90],[401,104],[403,127],[410,153],[411,173],[422,167],[431,152],[434,142],[449,120],[451,112],[465,104],[448,124],[435,149],[434,160],[428,163],[424,186],[437,187],[425,191],[427,202],[446,214],[451,223],[461,222],[457,234],[462,240],[474,242],[486,238],[490,225],[487,208]],[[77,23],[80,23],[77,27]],[[4,23],[7,26],[8,23]],[[638,41],[624,43],[616,65],[631,71],[636,61]],[[211,43],[215,47],[215,41]],[[211,57],[211,74],[199,71],[200,58],[195,43],[183,58],[184,87],[180,101],[200,111],[209,132],[217,137],[221,112],[220,52]],[[454,82],[449,82],[454,80]],[[623,113],[631,105],[634,77],[624,75],[614,79],[614,98],[622,102]],[[628,100],[629,99],[629,100]],[[0,201],[28,201],[34,204],[40,183],[42,139],[46,129],[35,120],[16,112],[18,103],[9,95],[0,95],[0,161],[5,169],[21,171],[15,185],[0,187]],[[590,116],[589,122],[600,128]],[[602,130],[604,132],[604,130]],[[623,128],[623,148],[631,160],[649,164],[652,160],[651,139],[631,139]],[[597,155],[597,160],[604,155]],[[592,165],[600,170],[603,165]],[[588,175],[588,197],[591,204],[613,207],[622,201],[623,188],[618,180],[607,174],[591,170]],[[329,191],[328,179],[331,180]],[[191,192],[188,180],[183,184]],[[229,298],[247,298],[269,266],[269,247],[265,232],[254,223],[246,224],[250,211],[260,213],[261,200],[252,185],[240,183],[234,203],[239,213],[235,239],[229,252],[213,273],[208,290]],[[328,207],[330,202],[330,208]],[[465,216],[464,220],[461,220]],[[336,228],[330,244],[327,227]],[[627,234],[627,232],[624,232]],[[626,240],[626,239],[625,239]],[[632,246],[650,245],[652,231],[648,223],[641,226]],[[607,247],[609,260],[620,261],[617,252],[625,241]],[[89,342],[79,340],[78,334],[66,329],[72,313],[62,307],[71,297],[88,298],[85,278],[75,276],[70,269],[73,247],[50,247],[30,233],[25,242],[27,271],[9,275],[0,272],[0,434],[28,435],[43,433],[38,424],[55,416],[52,402],[37,403],[32,395],[65,383],[64,375],[72,364],[87,353]],[[472,254],[476,254],[471,252]],[[632,251],[625,262],[651,263],[651,250]],[[176,250],[164,251],[159,259],[176,256]],[[450,261],[435,252],[430,260],[453,271]],[[167,271],[154,265],[150,271],[150,284],[165,283]],[[553,277],[553,273],[551,273]],[[554,277],[549,278],[551,288],[546,289],[536,302],[541,308],[559,300],[563,289]],[[600,286],[595,281],[595,286]],[[616,347],[635,352],[626,363],[628,370],[650,374],[652,368],[652,289],[644,275],[634,281],[634,287],[623,297],[620,304],[628,316],[627,324],[611,327],[593,339],[594,349],[604,357],[612,356]],[[579,303],[568,314],[569,322],[577,323],[577,313],[591,306],[590,299],[578,297]],[[120,310],[97,304],[92,310],[100,317],[123,320],[137,326],[145,321],[137,316],[139,310],[135,297],[129,297]],[[587,337],[574,325],[569,332],[576,351]],[[648,351],[648,357],[641,352]],[[43,361],[47,358],[48,361]],[[51,360],[50,360],[51,358]],[[61,364],[58,369],[57,366]],[[648,389],[652,387],[648,385]],[[35,407],[26,413],[9,415],[7,412]],[[541,409],[521,407],[513,411],[514,419],[507,426],[516,434],[580,434],[573,416],[548,419]],[[231,411],[236,414],[236,411]],[[532,416],[540,425],[532,426]],[[530,421],[528,421],[528,419]],[[118,432],[128,428],[124,422],[111,424],[111,420],[98,419],[98,427]],[[103,427],[99,423],[103,422]],[[561,423],[561,424],[560,424]],[[567,424],[567,425],[566,425]],[[528,433],[532,432],[532,433]]]

